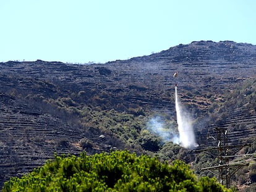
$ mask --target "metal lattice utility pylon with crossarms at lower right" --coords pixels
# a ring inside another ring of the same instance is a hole
[[[228,129],[227,128],[215,128],[216,131],[216,141],[217,146],[207,149],[198,149],[195,152],[205,152],[210,154],[213,157],[218,157],[218,165],[212,167],[205,167],[202,170],[208,170],[218,177],[218,180],[221,184],[226,185],[227,188],[230,188],[230,178],[237,172],[241,167],[249,165],[246,163],[229,163],[229,159],[236,157],[236,152],[240,151],[244,146],[250,146],[250,144],[240,144],[240,145],[229,145],[228,143]],[[208,151],[217,151],[217,155]],[[218,173],[214,172],[218,170]]]

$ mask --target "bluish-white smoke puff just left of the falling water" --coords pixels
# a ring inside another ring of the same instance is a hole
[[[168,127],[167,123],[164,121],[164,118],[160,115],[152,117],[148,121],[147,129],[160,136],[163,143],[172,141],[175,144],[179,144],[179,134],[174,128]]]

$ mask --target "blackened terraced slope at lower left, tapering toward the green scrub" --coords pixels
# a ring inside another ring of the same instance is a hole
[[[95,143],[88,154],[109,151],[116,139],[89,132],[62,117],[41,111],[34,104],[0,94],[0,184],[10,177],[27,173],[58,154],[79,154],[82,138]],[[116,140],[118,142],[118,140]],[[114,146],[116,146],[114,145]],[[119,143],[122,146],[121,143]]]

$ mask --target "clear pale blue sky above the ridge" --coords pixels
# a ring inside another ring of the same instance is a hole
[[[0,62],[101,62],[192,41],[256,44],[254,0],[1,0]]]

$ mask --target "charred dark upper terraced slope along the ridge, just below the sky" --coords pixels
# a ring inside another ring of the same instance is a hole
[[[205,93],[221,94],[221,90],[255,76],[255,57],[255,46],[250,44],[200,41],[150,56],[106,64],[7,62],[1,64],[1,73],[19,77],[20,81],[16,83],[23,83],[24,89],[29,86],[27,78],[33,78],[56,83],[62,90],[106,91],[116,102],[122,96],[129,105],[136,101],[140,105],[163,109],[166,106],[173,108],[173,98],[166,92],[173,94],[174,83],[181,94],[187,91],[197,91],[195,97]],[[174,81],[172,74],[176,70],[179,75]],[[203,103],[207,104],[207,101]]]

